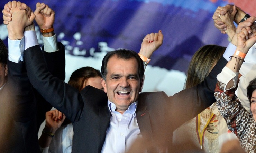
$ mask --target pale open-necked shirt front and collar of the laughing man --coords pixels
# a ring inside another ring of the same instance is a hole
[[[111,117],[101,153],[125,153],[130,149],[134,141],[141,137],[136,117],[137,105],[138,102],[132,103],[121,114],[116,111],[116,105],[108,101]]]

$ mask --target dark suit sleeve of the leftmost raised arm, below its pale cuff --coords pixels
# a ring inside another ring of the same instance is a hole
[[[9,101],[8,115],[12,126],[10,136],[3,142],[5,144],[3,152],[39,153],[36,130],[36,101],[24,63],[8,61],[7,87],[11,88],[9,92],[11,94],[8,95],[11,100]]]

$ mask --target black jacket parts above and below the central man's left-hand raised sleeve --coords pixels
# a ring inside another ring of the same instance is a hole
[[[48,53],[44,51],[42,46],[43,56],[49,72],[64,81],[65,79],[65,47],[62,43],[57,42],[58,51]],[[52,105],[47,102],[36,89],[34,89],[35,98],[37,101],[37,130],[39,130],[42,122],[45,120],[45,113],[51,110]]]

